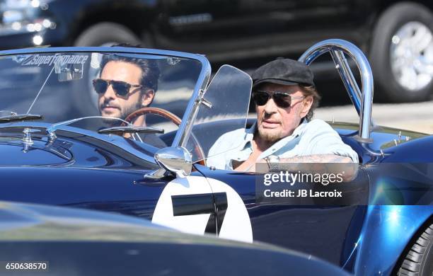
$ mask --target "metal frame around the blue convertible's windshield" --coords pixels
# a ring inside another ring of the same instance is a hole
[[[187,108],[185,109],[185,113],[182,117],[182,122],[179,125],[179,128],[175,134],[175,138],[173,140],[173,144],[171,146],[180,146],[183,144],[185,138],[189,137],[190,126],[193,123],[192,118],[194,117],[195,110],[197,110],[197,101],[203,96],[202,91],[205,90],[207,84],[209,83],[210,75],[212,72],[212,68],[209,60],[204,57],[202,54],[191,54],[187,52],[178,52],[171,50],[156,50],[156,49],[148,49],[148,48],[136,48],[136,47],[40,47],[40,48],[25,48],[18,50],[3,50],[0,51],[0,57],[6,57],[10,55],[16,54],[40,54],[40,53],[51,53],[51,52],[100,52],[100,53],[125,53],[125,54],[152,54],[159,56],[171,56],[171,57],[180,57],[186,59],[195,59],[202,65],[202,69],[198,76],[197,82],[194,87],[194,91],[192,92],[192,96],[188,101]],[[40,123],[30,122],[23,124],[22,122],[9,122],[2,123],[0,127],[11,127],[12,125],[40,125]],[[128,146],[127,143],[120,143],[120,139],[104,139],[105,136],[98,133],[93,133],[90,131],[81,131],[81,133],[86,133],[86,135],[94,137],[96,139],[101,139],[106,142],[110,142],[115,146],[120,146],[122,149],[127,150],[129,153],[138,156],[143,159],[142,154],[137,154],[137,149],[132,148],[132,146]],[[154,156],[151,156],[151,159],[144,158],[146,161],[151,161],[152,163],[156,163],[153,159]]]

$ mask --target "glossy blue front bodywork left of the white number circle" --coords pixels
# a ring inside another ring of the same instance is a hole
[[[168,182],[147,188],[152,180],[144,175],[159,168],[156,164],[95,137],[58,131],[57,139],[48,142],[42,132],[33,134],[33,144],[26,145],[22,128],[14,131],[0,134],[0,200],[150,217]],[[137,151],[151,159],[155,149],[141,144],[134,144]]]

